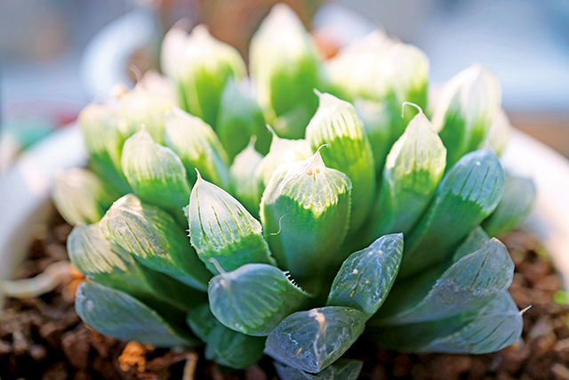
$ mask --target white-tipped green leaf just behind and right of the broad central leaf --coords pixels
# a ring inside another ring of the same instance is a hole
[[[375,195],[372,148],[354,106],[329,93],[319,95],[320,105],[310,120],[306,138],[312,149],[323,144],[326,166],[348,175],[352,182],[350,230],[359,229],[369,214]]]

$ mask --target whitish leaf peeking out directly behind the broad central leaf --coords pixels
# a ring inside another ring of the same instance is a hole
[[[302,161],[310,156],[312,156],[312,149],[309,141],[281,139],[276,134],[273,134],[270,150],[268,150],[267,156],[260,161],[259,166],[255,170],[258,184],[256,203],[260,203],[263,191],[279,166]]]

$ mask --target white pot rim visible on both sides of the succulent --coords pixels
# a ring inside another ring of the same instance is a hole
[[[502,162],[536,182],[538,197],[527,225],[541,238],[569,288],[569,160],[514,130]],[[12,277],[37,227],[49,217],[53,176],[85,164],[81,131],[69,125],[24,153],[0,177],[0,280]]]

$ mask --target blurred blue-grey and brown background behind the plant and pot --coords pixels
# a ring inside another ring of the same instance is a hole
[[[383,26],[431,61],[431,83],[481,62],[512,124],[569,157],[569,0],[288,0],[342,43]],[[156,66],[174,22],[204,22],[246,57],[272,0],[0,1],[0,173],[116,81]],[[334,46],[330,46],[331,52]],[[129,69],[129,68],[136,69]]]

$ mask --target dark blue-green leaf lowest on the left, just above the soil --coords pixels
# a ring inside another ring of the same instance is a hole
[[[197,343],[189,330],[180,328],[178,315],[159,315],[132,296],[92,280],[84,281],[76,294],[76,311],[89,326],[106,336],[157,347],[191,346]],[[180,311],[183,317],[183,313]],[[183,320],[183,319],[182,319]]]

